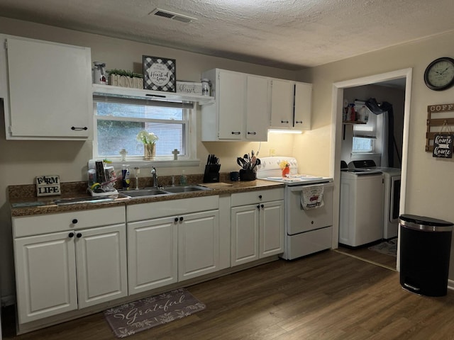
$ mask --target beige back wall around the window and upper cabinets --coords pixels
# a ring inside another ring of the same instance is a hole
[[[106,62],[107,69],[130,69],[142,72],[142,56],[168,57],[177,61],[177,79],[199,81],[201,72],[212,68],[231,69],[238,72],[294,80],[294,72],[272,67],[236,62],[219,57],[209,57],[167,47],[147,45],[128,40],[106,38],[101,35],[79,33],[25,21],[0,17],[0,33],[40,40],[50,40],[92,48],[92,60]],[[71,67],[71,65],[68,65]],[[200,120],[200,112],[197,113]],[[255,151],[268,156],[270,148],[277,154],[292,156],[293,137],[270,135],[268,142],[200,142],[200,121],[197,124],[197,157],[201,165],[186,169],[187,174],[202,174],[208,154],[221,159],[221,172],[236,171],[236,157]],[[92,158],[92,142],[51,142],[5,140],[4,118],[0,119],[0,277],[1,296],[13,295],[13,258],[11,217],[6,202],[6,188],[11,184],[32,184],[36,175],[59,174],[63,182],[86,181],[87,160]],[[161,174],[179,174],[181,168],[159,168]],[[145,175],[143,175],[145,174]],[[140,176],[147,176],[142,171]]]

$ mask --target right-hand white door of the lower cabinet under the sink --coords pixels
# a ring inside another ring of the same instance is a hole
[[[219,212],[182,215],[178,225],[178,280],[218,270]]]

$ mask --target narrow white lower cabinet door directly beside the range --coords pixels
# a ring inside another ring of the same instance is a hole
[[[260,208],[260,259],[284,251],[284,201],[263,203]]]

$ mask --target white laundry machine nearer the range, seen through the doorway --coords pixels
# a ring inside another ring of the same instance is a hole
[[[382,239],[383,192],[380,171],[341,171],[340,244],[362,246]]]

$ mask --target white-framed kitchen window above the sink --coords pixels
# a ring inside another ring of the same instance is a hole
[[[126,149],[128,161],[143,160],[143,144],[138,132],[153,132],[156,142],[155,161],[191,159],[195,154],[195,134],[191,134],[193,103],[150,101],[137,98],[94,96],[94,158],[120,159]],[[153,161],[153,162],[155,162]]]

